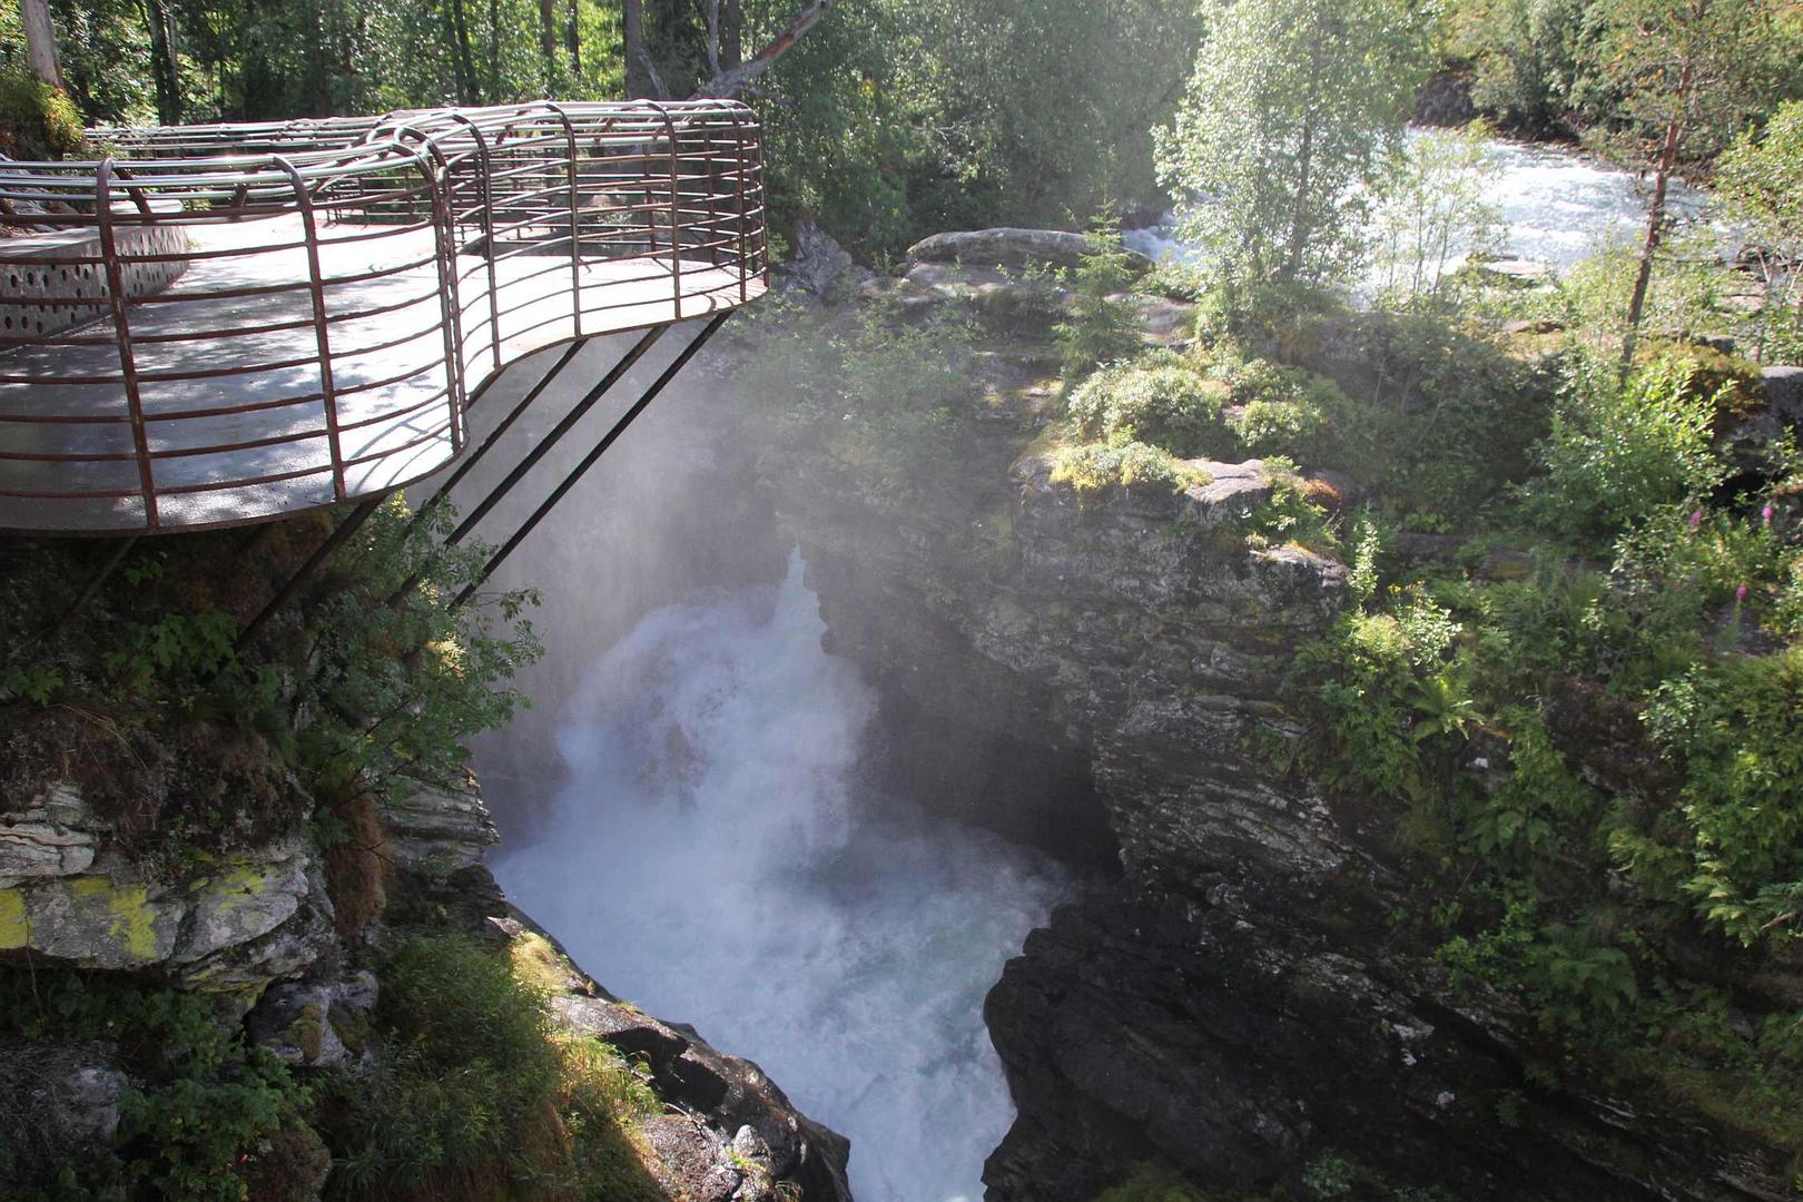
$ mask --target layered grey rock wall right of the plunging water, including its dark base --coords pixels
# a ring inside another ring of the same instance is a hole
[[[993,260],[997,240],[972,243]],[[954,461],[907,506],[811,447],[775,443],[766,474],[829,651],[880,683],[891,742],[956,768],[929,804],[1118,858],[988,998],[1019,1106],[988,1197],[1087,1200],[1149,1162],[1230,1197],[1341,1197],[1320,1193],[1341,1177],[1345,1197],[1787,1197],[1695,1126],[1531,1087],[1533,1020],[1397,946],[1392,816],[1284,771],[1307,737],[1284,678],[1341,564],[1249,550],[1257,463],[1192,465],[1210,483],[1185,492],[1055,485],[1030,447],[1057,357],[1019,315],[1057,297],[941,258],[862,296],[986,323],[974,387],[947,398]]]

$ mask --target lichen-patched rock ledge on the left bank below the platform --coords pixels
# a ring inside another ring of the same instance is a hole
[[[386,933],[379,917],[346,923],[344,905],[334,905],[332,856],[307,825],[312,798],[254,737],[198,726],[178,748],[148,739],[114,748],[133,771],[96,775],[78,753],[96,742],[83,721],[45,712],[14,723],[5,742],[0,971],[130,973],[206,993],[222,1024],[242,1022],[252,1043],[297,1070],[364,1061],[382,982],[350,966]],[[234,816],[229,829],[184,833],[197,791]],[[379,822],[370,833],[388,865],[379,892],[406,894],[445,932],[505,941],[537,930],[481,865],[496,833],[472,780],[420,784]],[[849,1200],[847,1141],[797,1112],[757,1065],[613,998],[561,955],[548,971],[557,1031],[644,1065],[662,1110],[633,1144],[669,1197]],[[56,1164],[110,1146],[133,1087],[123,1063],[105,1040],[0,1038],[0,1150]],[[321,1164],[296,1197],[317,1197],[323,1184]]]

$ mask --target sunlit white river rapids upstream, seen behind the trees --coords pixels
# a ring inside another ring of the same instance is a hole
[[[1412,130],[1412,139],[1435,137]],[[1506,254],[1565,272],[1597,250],[1632,243],[1646,229],[1650,180],[1556,146],[1491,139],[1493,184],[1486,189],[1507,232]],[[1704,214],[1707,193],[1675,180],[1670,207],[1679,220]],[[1127,245],[1154,260],[1192,260],[1199,250],[1170,225],[1136,229]]]

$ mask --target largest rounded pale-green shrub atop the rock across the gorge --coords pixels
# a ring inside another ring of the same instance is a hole
[[[1161,351],[1096,371],[1071,395],[1069,414],[1089,440],[1125,436],[1192,460],[1231,449],[1226,395],[1186,359]]]

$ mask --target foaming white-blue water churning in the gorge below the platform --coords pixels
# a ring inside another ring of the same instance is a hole
[[[559,726],[572,784],[501,885],[647,1011],[755,1060],[853,1141],[860,1202],[979,1198],[1013,1121],[983,997],[1069,888],[855,786],[874,696],[777,589],[662,609]]]

